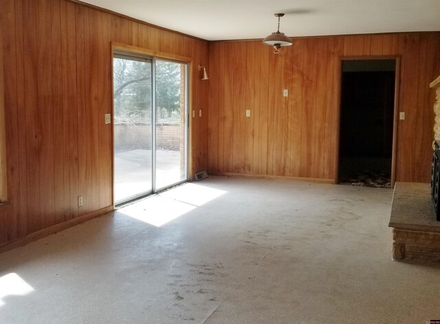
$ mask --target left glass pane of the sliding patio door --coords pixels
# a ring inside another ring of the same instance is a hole
[[[115,204],[153,191],[151,60],[113,58]]]

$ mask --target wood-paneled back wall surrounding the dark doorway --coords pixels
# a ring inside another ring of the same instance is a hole
[[[210,43],[208,170],[332,182],[349,56],[399,57],[396,180],[428,182],[439,32],[298,38],[277,55],[261,41]]]

